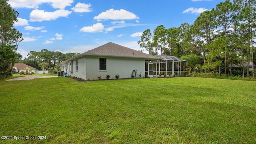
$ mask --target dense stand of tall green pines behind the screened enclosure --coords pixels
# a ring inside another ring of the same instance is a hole
[[[256,1],[226,0],[202,12],[194,24],[183,23],[177,28],[160,25],[153,33],[147,29],[138,44],[151,55],[193,60],[190,64],[200,64],[204,72],[232,75],[232,68],[238,66],[244,77],[244,71],[249,76],[249,63],[256,63],[255,31]]]

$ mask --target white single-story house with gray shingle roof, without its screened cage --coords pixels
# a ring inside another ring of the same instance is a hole
[[[109,42],[83,54],[61,62],[61,70],[67,76],[84,80],[156,77],[160,73],[162,58]],[[186,68],[185,68],[186,69]]]

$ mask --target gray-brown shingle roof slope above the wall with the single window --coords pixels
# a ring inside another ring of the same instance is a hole
[[[133,50],[125,46],[108,42],[102,46],[89,50],[83,53],[83,55],[97,55],[97,56],[117,56],[117,57],[133,57],[133,58],[150,58],[159,59],[156,56],[145,54],[138,50]]]

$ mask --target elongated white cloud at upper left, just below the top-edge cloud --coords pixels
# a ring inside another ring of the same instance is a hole
[[[56,10],[54,12],[45,12],[44,10],[32,10],[30,13],[31,22],[42,22],[44,20],[56,20],[59,17],[66,17],[72,12],[68,10]]]

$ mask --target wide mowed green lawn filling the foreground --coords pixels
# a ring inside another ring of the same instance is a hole
[[[256,82],[141,78],[0,81],[0,143],[256,143]]]

